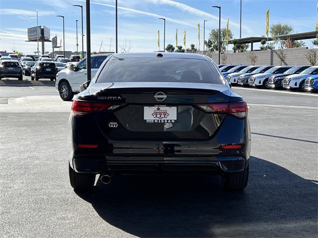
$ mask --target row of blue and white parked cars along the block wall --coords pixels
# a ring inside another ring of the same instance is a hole
[[[219,65],[231,85],[317,92],[318,66]]]

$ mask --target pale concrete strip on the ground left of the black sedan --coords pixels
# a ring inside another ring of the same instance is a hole
[[[72,102],[64,102],[59,96],[2,98],[0,113],[69,113],[71,106]]]

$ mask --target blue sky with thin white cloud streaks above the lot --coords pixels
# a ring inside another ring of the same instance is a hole
[[[0,0],[0,50],[16,50],[32,53],[36,43],[25,42],[26,28],[36,26],[36,12],[39,11],[39,25],[51,30],[51,37],[63,37],[62,19],[65,16],[66,50],[76,50],[76,20],[80,8],[72,4],[85,5],[84,0]],[[91,50],[114,51],[115,45],[115,0],[91,0]],[[222,27],[230,19],[230,29],[239,38],[239,0],[118,0],[119,44],[131,46],[132,52],[155,51],[157,31],[160,30],[161,50],[163,47],[163,21],[166,18],[166,45],[175,45],[175,30],[178,28],[179,45],[186,31],[186,44],[198,44],[197,24],[201,25],[201,50],[203,42],[203,20],[208,32],[218,27],[218,9],[222,6]],[[316,0],[242,0],[242,37],[265,35],[265,12],[270,9],[270,24],[288,23],[295,32],[315,29],[317,19]],[[85,10],[84,10],[85,12]],[[85,17],[85,16],[84,16]],[[84,18],[85,32],[85,18]],[[84,38],[85,42],[85,38]],[[311,46],[310,41],[306,41]],[[79,48],[81,48],[79,38]],[[85,43],[84,43],[85,44]],[[254,46],[256,48],[256,46]],[[85,48],[84,48],[85,49]],[[46,43],[51,52],[51,43]]]

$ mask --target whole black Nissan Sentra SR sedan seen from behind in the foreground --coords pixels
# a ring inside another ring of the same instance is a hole
[[[221,175],[248,180],[247,105],[210,58],[185,53],[108,57],[72,105],[71,185],[113,174]]]

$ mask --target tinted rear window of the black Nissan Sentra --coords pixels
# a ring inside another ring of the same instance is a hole
[[[97,83],[188,82],[223,84],[208,60],[178,58],[117,58],[108,61]]]

